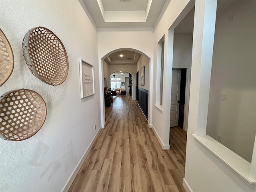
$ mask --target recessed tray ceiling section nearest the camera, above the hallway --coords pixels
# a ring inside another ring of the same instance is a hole
[[[97,28],[154,27],[170,0],[82,0]]]

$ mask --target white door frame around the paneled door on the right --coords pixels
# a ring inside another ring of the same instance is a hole
[[[184,107],[184,120],[183,130],[188,130],[188,106],[189,106],[189,95],[190,95],[190,79],[191,79],[191,66],[178,66],[172,67],[172,69],[187,69],[186,70],[186,89],[185,89],[185,107]]]

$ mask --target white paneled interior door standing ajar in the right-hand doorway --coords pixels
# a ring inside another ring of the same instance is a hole
[[[180,107],[180,69],[172,70],[172,95],[171,95],[171,115],[170,127],[179,124],[179,107]]]

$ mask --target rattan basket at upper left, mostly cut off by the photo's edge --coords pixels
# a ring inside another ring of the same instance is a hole
[[[12,48],[4,32],[0,29],[0,86],[4,84],[12,74],[14,57]]]

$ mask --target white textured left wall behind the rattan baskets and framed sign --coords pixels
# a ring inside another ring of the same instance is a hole
[[[47,105],[42,128],[31,138],[0,139],[0,191],[59,192],[100,128],[97,31],[78,1],[1,1],[0,26],[14,53],[14,70],[0,94],[27,88]],[[66,48],[69,72],[60,86],[33,76],[22,56],[32,27],[52,30]],[[94,65],[95,94],[80,98],[78,59]],[[94,130],[96,125],[96,130]]]

